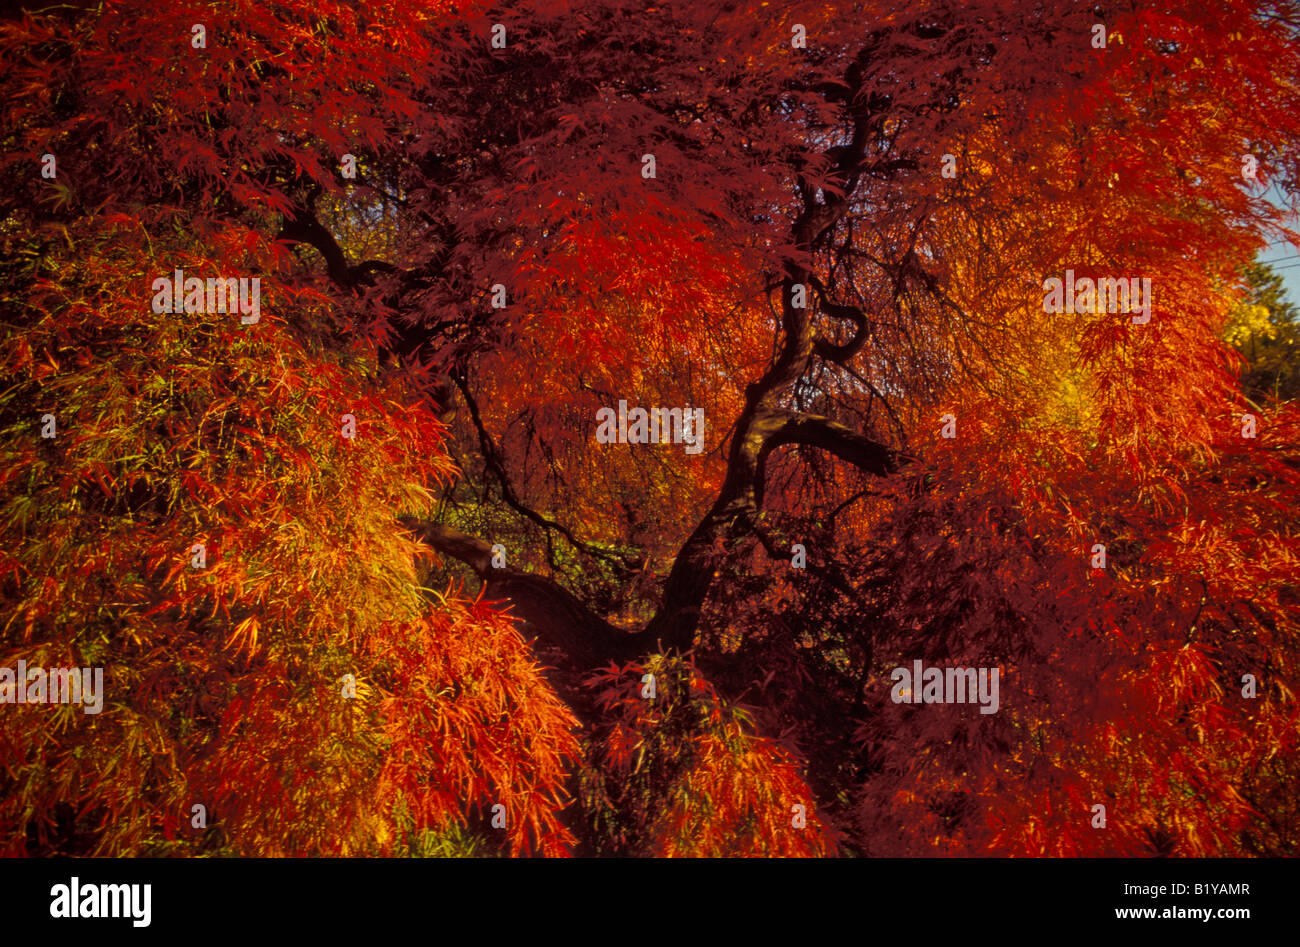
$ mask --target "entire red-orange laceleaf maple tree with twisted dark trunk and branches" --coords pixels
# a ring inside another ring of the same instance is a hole
[[[1300,411],[1243,345],[1292,330],[1245,274],[1296,4],[109,0],[0,49],[0,667],[107,680],[0,704],[5,855],[1296,853]],[[260,319],[155,311],[178,269]],[[597,442],[620,401],[703,453]],[[897,702],[916,660],[997,712]]]

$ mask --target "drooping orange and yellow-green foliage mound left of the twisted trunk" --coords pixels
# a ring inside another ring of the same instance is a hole
[[[572,714],[394,528],[455,472],[442,427],[274,274],[256,325],[153,313],[153,273],[274,254],[150,224],[23,246],[6,299],[3,661],[105,669],[96,714],[6,706],[6,851],[391,851],[497,804],[511,851],[564,851]]]

